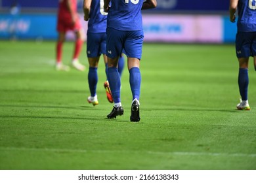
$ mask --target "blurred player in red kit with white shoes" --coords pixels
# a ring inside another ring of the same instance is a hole
[[[56,70],[69,71],[68,65],[62,63],[62,46],[66,39],[67,31],[75,33],[75,48],[72,59],[72,67],[84,71],[85,66],[79,63],[78,57],[84,41],[84,33],[77,14],[77,0],[60,0],[57,20],[58,40],[56,43]]]

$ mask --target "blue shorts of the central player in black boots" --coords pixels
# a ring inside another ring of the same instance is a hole
[[[106,55],[117,58],[124,52],[129,58],[141,58],[143,31],[119,31],[112,27],[107,28]]]

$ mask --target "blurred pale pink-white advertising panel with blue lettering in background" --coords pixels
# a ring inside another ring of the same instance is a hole
[[[145,42],[213,42],[223,41],[221,16],[143,15]]]

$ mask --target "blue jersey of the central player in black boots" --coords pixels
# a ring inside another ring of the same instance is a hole
[[[120,31],[142,30],[142,3],[143,0],[111,0],[108,27]]]

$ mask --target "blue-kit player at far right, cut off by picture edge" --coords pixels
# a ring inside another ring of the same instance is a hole
[[[248,103],[248,63],[253,56],[256,71],[256,1],[255,0],[230,0],[230,22],[236,22],[238,9],[238,32],[236,33],[236,57],[239,62],[238,86],[241,101],[238,110],[250,110]]]

